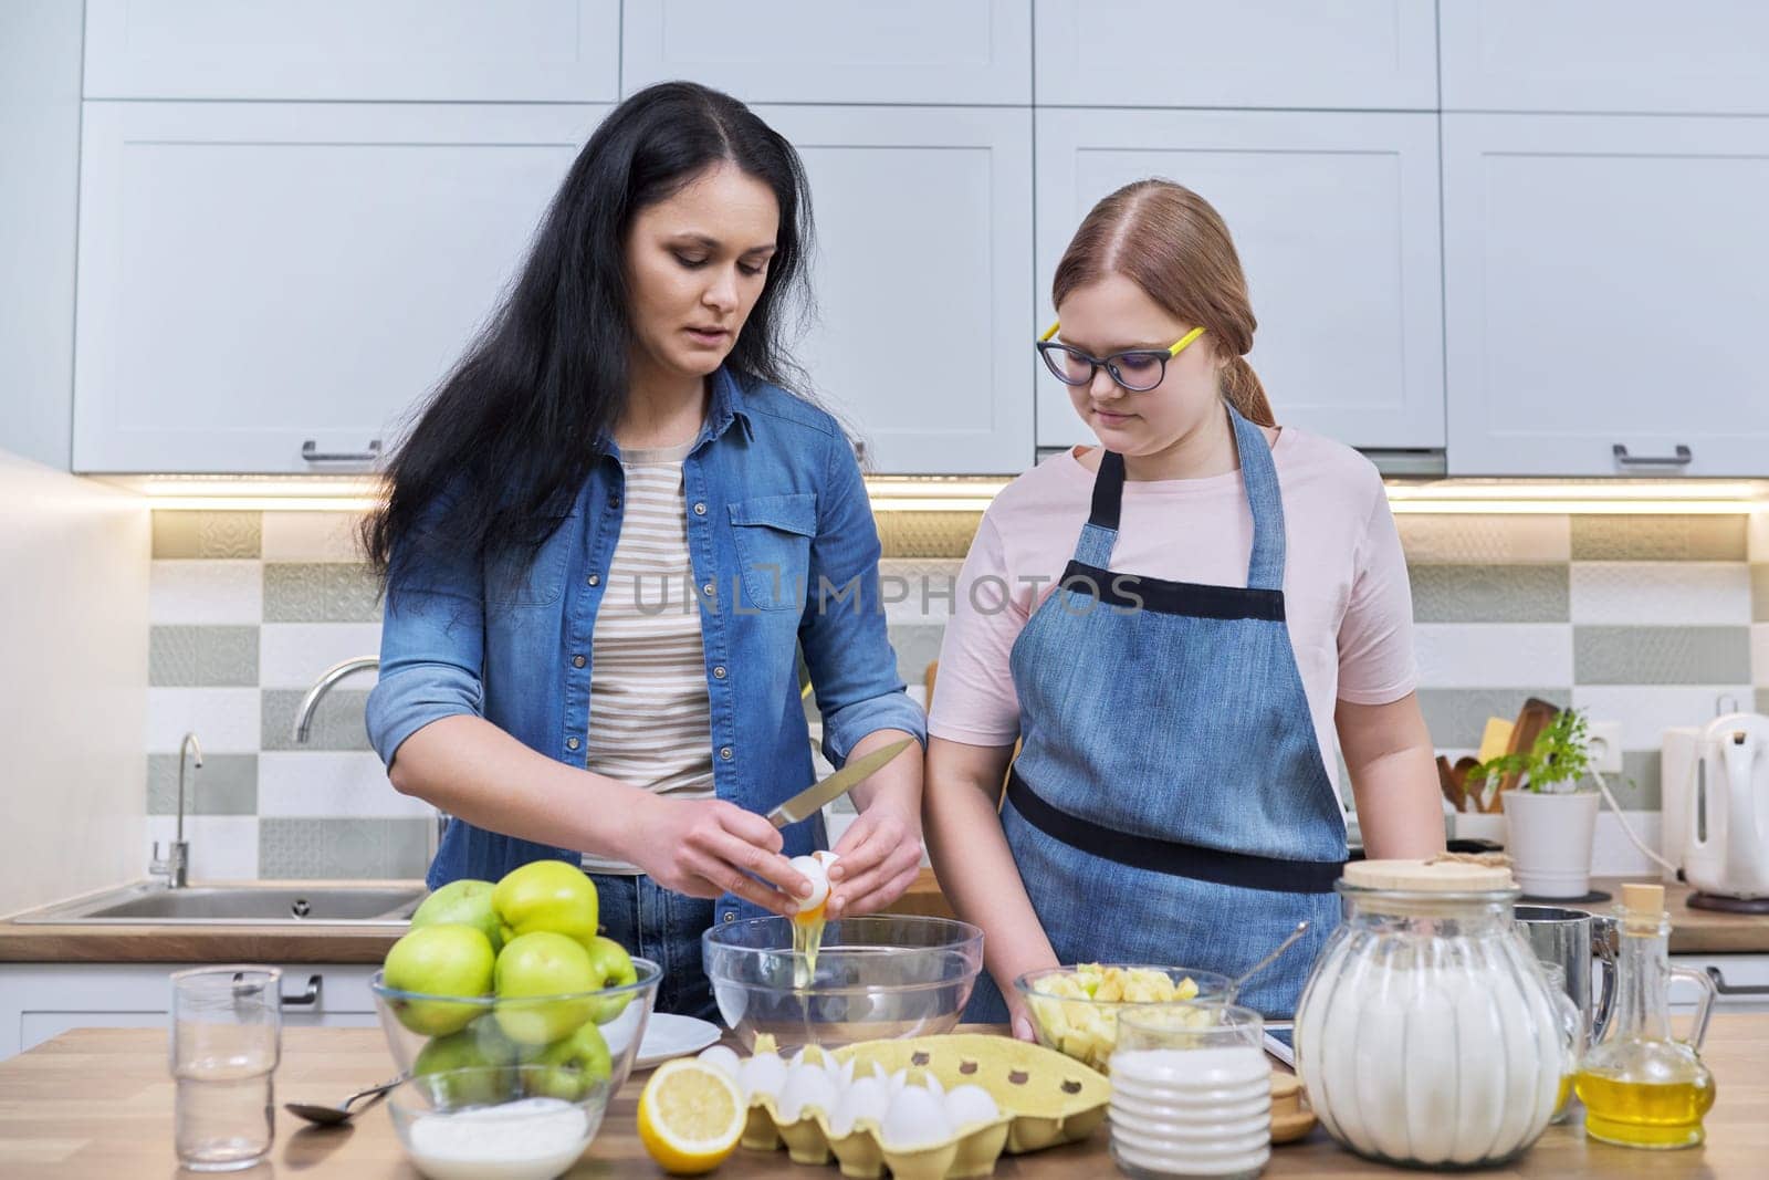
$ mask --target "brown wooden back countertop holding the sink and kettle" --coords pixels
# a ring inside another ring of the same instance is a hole
[[[1645,877],[1636,877],[1645,879]],[[1592,886],[1620,897],[1620,877]],[[1689,909],[1689,886],[1665,886],[1672,954],[1769,954],[1769,915]],[[1608,902],[1587,906],[1606,909]],[[932,869],[892,913],[950,918]],[[0,922],[0,962],[380,962],[400,929],[348,925],[21,925]]]

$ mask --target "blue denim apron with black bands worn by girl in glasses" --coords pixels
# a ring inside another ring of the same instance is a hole
[[[1109,571],[1123,456],[1102,455],[1063,582],[1014,644],[1024,745],[1001,826],[1058,962],[1233,977],[1311,920],[1240,994],[1288,1017],[1339,923],[1344,819],[1284,624],[1272,451],[1228,412],[1252,510],[1247,587]],[[966,1019],[1007,1019],[987,973]]]

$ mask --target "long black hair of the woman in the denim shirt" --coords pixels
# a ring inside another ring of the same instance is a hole
[[[778,386],[800,375],[785,349],[787,318],[810,308],[798,152],[729,94],[640,90],[578,152],[509,294],[389,462],[387,501],[361,533],[384,586],[430,559],[525,563],[566,518],[626,407],[633,218],[722,161],[780,205],[768,281],[725,363]]]

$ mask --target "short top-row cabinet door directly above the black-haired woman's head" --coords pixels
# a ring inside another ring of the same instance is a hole
[[[1031,0],[628,0],[621,88],[745,103],[1031,101]]]

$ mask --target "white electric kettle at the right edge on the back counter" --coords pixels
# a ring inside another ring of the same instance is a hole
[[[1769,716],[1718,716],[1700,750],[1682,872],[1711,899],[1769,899]]]

